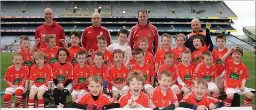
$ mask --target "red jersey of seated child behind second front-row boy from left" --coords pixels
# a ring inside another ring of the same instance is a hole
[[[152,66],[147,62],[145,62],[145,64],[142,67],[139,66],[138,63],[133,64],[131,72],[133,71],[141,72],[142,76],[145,78],[145,84],[151,84],[151,77],[155,77],[155,72],[153,71]]]

